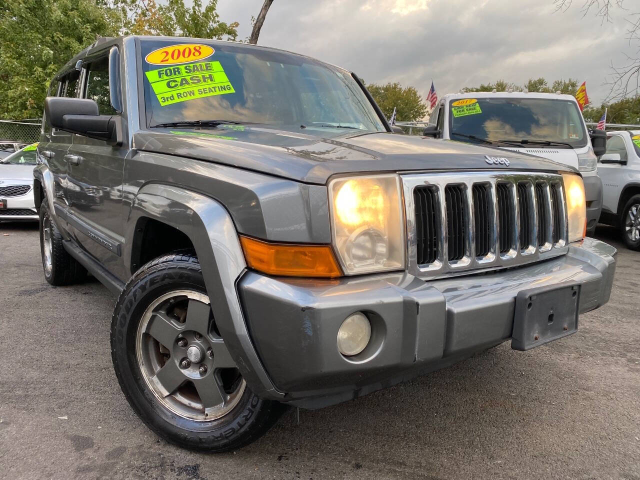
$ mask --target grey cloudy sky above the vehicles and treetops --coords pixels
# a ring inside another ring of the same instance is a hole
[[[240,22],[246,38],[262,1],[220,0],[218,11]],[[625,39],[625,12],[601,24],[582,4],[555,12],[553,0],[275,0],[259,44],[340,65],[367,83],[413,85],[424,96],[432,78],[440,96],[497,79],[572,77],[586,79],[591,103],[600,104],[611,63],[636,49]]]

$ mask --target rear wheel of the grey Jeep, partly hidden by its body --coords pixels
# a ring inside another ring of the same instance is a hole
[[[86,278],[86,269],[62,246],[62,235],[51,220],[47,202],[40,205],[40,254],[44,278],[51,285],[71,285]]]

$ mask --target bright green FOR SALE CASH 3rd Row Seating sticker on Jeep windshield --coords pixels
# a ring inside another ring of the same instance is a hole
[[[146,72],[161,106],[235,93],[219,61],[203,61]]]

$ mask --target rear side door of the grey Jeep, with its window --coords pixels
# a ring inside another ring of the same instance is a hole
[[[76,97],[79,77],[80,72],[76,69],[61,74],[52,81],[49,96]],[[44,117],[38,153],[47,162],[53,177],[53,205],[60,223],[58,227],[65,230],[67,230],[69,204],[67,191],[69,165],[65,161],[65,156],[71,147],[72,140],[72,134],[53,129],[46,116]]]

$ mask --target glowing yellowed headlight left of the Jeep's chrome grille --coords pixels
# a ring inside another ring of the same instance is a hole
[[[401,198],[397,175],[332,180],[333,246],[344,273],[404,268]]]

